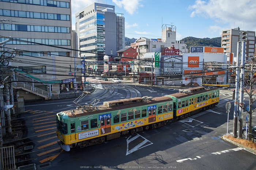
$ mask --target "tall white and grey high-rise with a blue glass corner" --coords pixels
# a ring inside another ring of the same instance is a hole
[[[76,13],[78,55],[85,61],[103,60],[105,54],[117,55],[124,48],[124,15],[116,14],[113,5],[93,3]],[[103,71],[97,64],[89,67]]]

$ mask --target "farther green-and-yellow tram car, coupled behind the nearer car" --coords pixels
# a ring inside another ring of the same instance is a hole
[[[166,96],[173,99],[174,118],[181,120],[218,105],[219,88],[194,87]]]

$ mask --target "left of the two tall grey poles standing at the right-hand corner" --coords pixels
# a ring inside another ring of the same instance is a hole
[[[234,137],[237,137],[237,117],[239,115],[239,76],[240,76],[240,70],[239,70],[239,48],[240,48],[240,42],[237,42],[237,68],[236,68],[236,90],[235,90],[235,99],[234,99],[234,123],[233,123],[233,135]]]

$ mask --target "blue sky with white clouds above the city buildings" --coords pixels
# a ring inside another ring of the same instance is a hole
[[[221,37],[221,30],[256,31],[256,0],[71,0],[75,13],[92,3],[124,14],[125,37],[161,38],[162,24],[176,26],[176,40]]]

